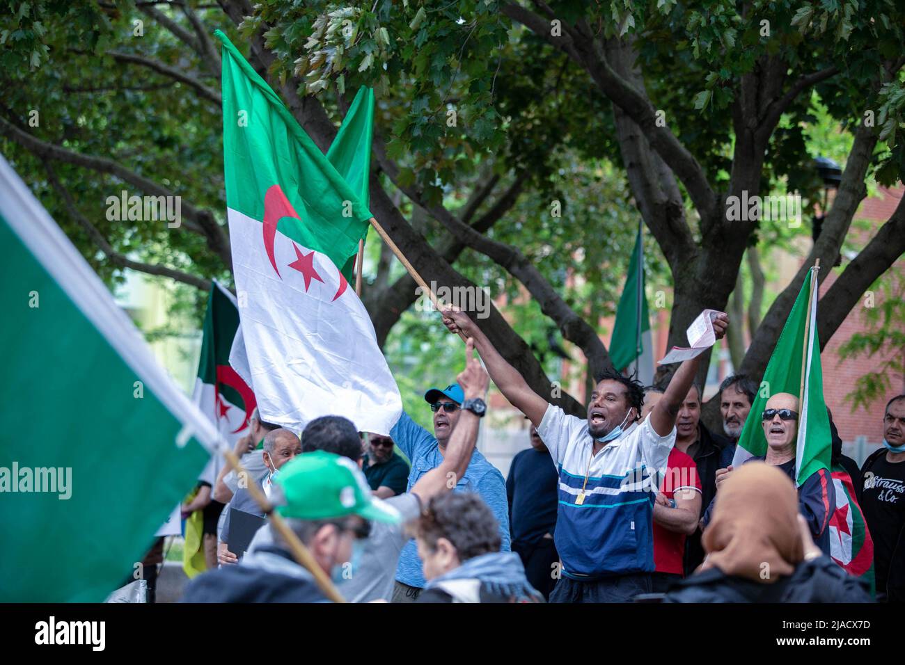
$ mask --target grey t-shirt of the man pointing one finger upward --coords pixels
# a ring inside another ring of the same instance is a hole
[[[371,534],[355,570],[350,570],[349,577],[344,576],[337,585],[349,603],[369,603],[380,598],[388,601],[393,594],[399,553],[409,539],[405,523],[421,513],[421,501],[410,493],[385,500],[402,514],[402,521],[399,524],[371,522]]]

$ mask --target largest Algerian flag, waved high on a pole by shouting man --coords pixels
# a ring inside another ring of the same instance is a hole
[[[340,175],[226,36],[216,34],[224,44],[233,274],[262,418],[299,431],[320,415],[342,414],[359,431],[386,434],[402,400],[367,310],[340,271],[371,217],[361,190]],[[370,122],[370,112],[354,117]],[[370,128],[349,123],[345,135],[349,145],[357,137],[356,150],[370,151]]]

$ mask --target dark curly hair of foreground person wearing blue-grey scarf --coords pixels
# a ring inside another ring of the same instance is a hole
[[[414,536],[433,551],[446,538],[459,561],[500,551],[500,524],[480,494],[448,492],[433,497],[414,527]]]

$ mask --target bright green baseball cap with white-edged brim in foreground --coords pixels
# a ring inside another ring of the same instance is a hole
[[[303,452],[286,462],[273,482],[281,489],[277,512],[284,518],[334,519],[357,515],[398,524],[399,511],[371,495],[365,474],[346,457]]]

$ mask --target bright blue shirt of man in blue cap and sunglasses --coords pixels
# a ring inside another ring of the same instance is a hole
[[[408,487],[405,489],[405,491],[411,491],[414,483],[427,471],[440,466],[443,455],[440,454],[437,440],[433,434],[415,423],[405,412],[393,425],[390,436],[399,446],[399,450],[405,452],[405,456],[412,461],[412,470],[408,475]],[[484,499],[497,521],[500,522],[502,540],[500,551],[509,552],[509,504],[506,501],[506,483],[503,481],[503,474],[487,461],[480,451],[476,450],[472,453],[472,461],[469,462],[465,475],[459,479],[453,491],[478,492],[481,495],[481,499]],[[418,547],[414,543],[414,538],[410,538],[402,548],[402,553],[399,555],[399,566],[396,568],[396,580],[418,588],[424,588],[424,584],[427,584],[424,580],[421,557],[418,556]]]

